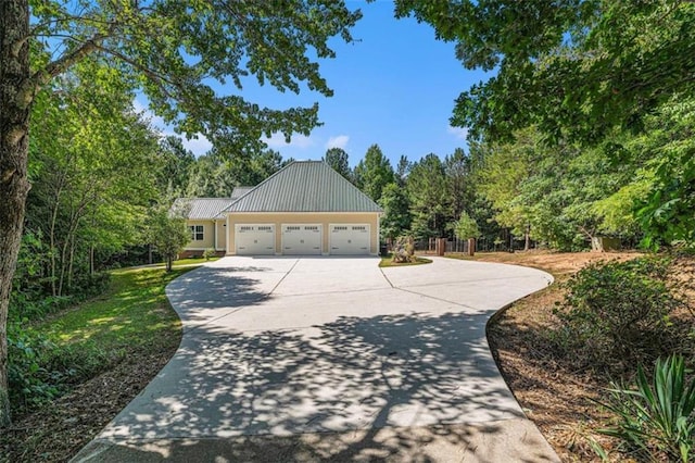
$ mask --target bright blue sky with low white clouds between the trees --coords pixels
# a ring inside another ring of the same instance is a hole
[[[458,95],[485,74],[464,68],[454,55],[454,43],[435,40],[428,24],[395,20],[390,1],[346,3],[362,9],[364,17],[353,28],[358,41],[332,40],[337,58],[320,62],[333,97],[307,90],[280,93],[253,83],[244,86],[247,100],[274,109],[319,103],[323,126],[308,137],[293,136],[289,145],[278,134],[266,140],[268,146],[296,160],[318,160],[336,146],[349,153],[353,166],[374,143],[392,165],[402,154],[417,161],[430,152],[444,158],[466,148],[465,129],[451,127],[448,118]],[[204,139],[186,145],[198,155],[210,148]]]

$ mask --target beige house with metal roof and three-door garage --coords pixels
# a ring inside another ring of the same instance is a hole
[[[185,255],[376,255],[379,216],[369,197],[323,161],[293,162],[230,198],[189,204]]]

